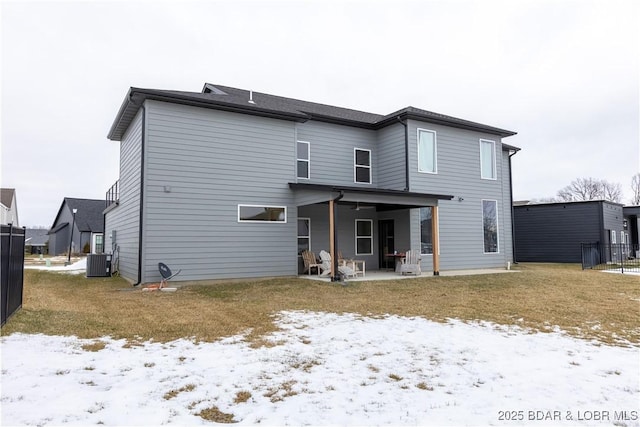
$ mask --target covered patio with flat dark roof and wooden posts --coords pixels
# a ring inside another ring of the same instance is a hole
[[[421,251],[419,208],[430,207],[433,274],[439,275],[438,201],[453,196],[369,187],[290,183],[298,208],[298,254],[325,250],[331,281],[339,281],[338,255],[366,263],[366,276],[384,268],[397,252]],[[391,265],[389,265],[391,262]],[[302,271],[300,271],[302,272]],[[366,276],[364,279],[366,279]],[[325,278],[327,276],[325,275]]]

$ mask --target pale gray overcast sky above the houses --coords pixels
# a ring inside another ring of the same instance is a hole
[[[514,198],[640,171],[640,2],[2,1],[1,185],[21,225],[118,179],[130,86],[205,82],[518,132]]]

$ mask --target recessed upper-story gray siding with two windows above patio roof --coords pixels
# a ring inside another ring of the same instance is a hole
[[[299,141],[310,143],[310,179],[298,182],[327,185],[376,187],[377,135],[373,130],[308,121],[296,125]],[[371,150],[371,184],[354,183],[353,150]],[[296,159],[292,156],[292,162]]]

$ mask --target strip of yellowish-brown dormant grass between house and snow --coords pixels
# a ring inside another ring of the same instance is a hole
[[[640,344],[638,276],[582,271],[580,266],[520,264],[519,273],[351,282],[343,287],[298,278],[187,286],[141,292],[119,278],[25,270],[23,308],[2,328],[13,332],[111,336],[141,341],[213,341],[251,330],[256,345],[275,329],[274,313],[312,310],[457,318],[554,326],[571,335]]]

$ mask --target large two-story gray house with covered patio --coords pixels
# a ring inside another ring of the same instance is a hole
[[[134,283],[158,281],[159,262],[181,280],[292,276],[302,250],[332,247],[367,271],[408,249],[422,251],[423,271],[503,267],[512,135],[413,107],[378,115],[211,84],[131,88],[108,135],[120,178],[106,248]]]

